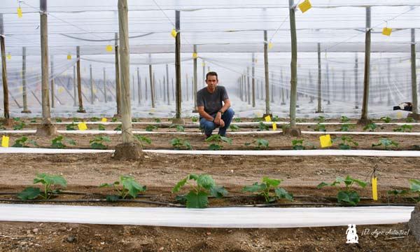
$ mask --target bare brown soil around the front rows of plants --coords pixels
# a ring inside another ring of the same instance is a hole
[[[63,120],[64,121],[64,120]],[[111,126],[111,125],[110,125]],[[111,127],[115,127],[111,126]],[[306,126],[305,126],[306,127]],[[65,127],[64,127],[65,128]],[[329,129],[329,126],[327,126]],[[166,129],[169,130],[169,129]],[[171,129],[174,130],[174,129]],[[249,130],[249,129],[248,129]],[[303,129],[302,129],[303,130]],[[305,129],[306,130],[306,129]],[[175,131],[175,130],[174,130]],[[197,130],[196,130],[197,131]],[[356,131],[356,129],[355,129]],[[413,127],[412,132],[420,132]],[[50,139],[34,134],[10,134],[10,143],[27,136],[36,140],[40,147],[49,147]],[[89,140],[94,138],[76,134],[64,134],[76,141],[77,146],[69,148],[90,148]],[[118,135],[109,148],[119,144]],[[145,148],[171,148],[170,134],[147,135],[152,143]],[[180,136],[190,141],[195,149],[207,149],[209,143],[198,134]],[[292,139],[305,139],[318,145],[317,135],[301,138],[281,134],[255,134],[250,136],[230,134],[232,146],[223,149],[253,149],[244,146],[256,137],[269,141],[269,149],[291,149]],[[332,136],[333,137],[333,136]],[[351,136],[359,146],[371,148],[381,136]],[[409,150],[419,145],[420,137],[388,138],[400,144],[395,150]],[[65,143],[64,143],[65,144]],[[333,146],[332,148],[337,148]],[[379,148],[378,148],[379,149]],[[97,188],[101,183],[118,180],[120,175],[135,176],[141,185],[146,185],[148,200],[176,203],[172,187],[187,174],[210,174],[218,184],[225,186],[230,195],[225,199],[211,199],[210,206],[235,204],[262,204],[260,197],[241,193],[243,186],[260,182],[263,176],[283,179],[281,186],[293,193],[296,203],[337,203],[333,197],[335,188],[315,189],[318,183],[332,183],[337,176],[351,175],[355,179],[369,181],[376,167],[379,185],[379,201],[373,202],[369,186],[356,190],[363,197],[361,204],[413,203],[403,197],[388,196],[386,191],[407,189],[407,179],[420,179],[418,169],[420,158],[386,157],[279,157],[279,156],[228,156],[228,155],[165,155],[146,153],[139,161],[119,161],[111,154],[83,155],[0,155],[0,192],[18,192],[37,173],[60,174],[67,180],[67,190],[97,195],[59,195],[54,200],[89,199],[111,194],[111,188]],[[182,190],[181,193],[186,193]],[[101,195],[99,195],[101,194]],[[0,195],[0,199],[16,199],[15,195]],[[280,201],[280,203],[287,203]],[[41,204],[41,203],[39,203]],[[53,202],[51,204],[54,204]],[[57,204],[57,203],[56,203]],[[60,203],[62,204],[62,203]],[[91,205],[93,203],[85,203]],[[153,204],[101,203],[107,206],[156,207]],[[225,229],[225,228],[167,228],[132,225],[86,225],[72,223],[0,223],[0,251],[419,251],[420,244],[409,234],[395,239],[393,235],[362,235],[363,230],[408,230],[407,223],[395,225],[360,225],[357,227],[359,244],[346,244],[346,226],[328,228],[283,228],[283,229]]]

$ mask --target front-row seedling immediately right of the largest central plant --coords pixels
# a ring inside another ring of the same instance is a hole
[[[293,194],[287,193],[283,188],[279,188],[280,183],[283,180],[269,179],[268,177],[262,178],[262,183],[255,182],[252,186],[244,186],[242,192],[258,193],[262,195],[265,202],[274,202],[276,199],[293,200]],[[270,194],[270,190],[274,189],[274,195]]]

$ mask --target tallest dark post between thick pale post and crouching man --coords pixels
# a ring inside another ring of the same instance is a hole
[[[176,116],[172,120],[174,124],[183,124],[184,121],[181,118],[181,22],[180,22],[180,11],[175,10],[175,76],[176,76]],[[188,79],[187,79],[188,80]]]

